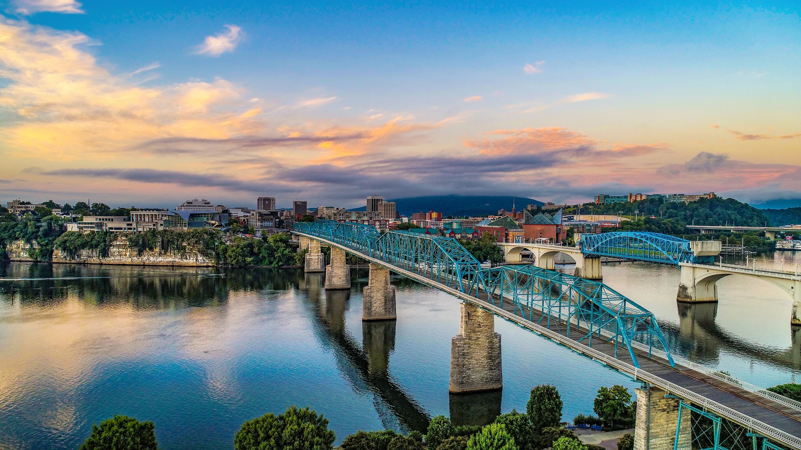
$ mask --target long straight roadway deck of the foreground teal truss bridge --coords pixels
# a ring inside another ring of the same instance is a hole
[[[661,388],[688,403],[708,412],[714,412],[718,416],[749,428],[762,436],[767,436],[780,444],[801,450],[801,408],[796,405],[779,403],[767,396],[739,388],[736,384],[727,383],[681,364],[676,364],[675,368],[670,367],[666,358],[658,356],[656,352],[649,354],[648,348],[642,345],[638,345],[638,348],[634,350],[640,366],[637,368],[627,352],[617,351],[619,344],[615,345],[617,343],[614,341],[594,337],[594,343],[592,343],[594,347],[590,348],[568,337],[570,331],[573,331],[574,335],[576,333],[587,335],[590,332],[584,327],[577,327],[575,323],[571,322],[570,326],[564,321],[557,323],[553,318],[543,318],[542,311],[521,310],[510,302],[502,302],[501,307],[497,307],[487,301],[489,298],[483,291],[477,297],[459,291],[456,288],[457,280],[453,277],[450,279],[445,277],[445,283],[440,283],[427,278],[426,275],[430,274],[419,267],[417,267],[418,271],[409,271],[316,235],[297,230],[293,230],[292,233],[320,241],[324,245],[341,248],[370,263],[386,267],[431,287],[437,287],[441,291],[454,295],[465,302],[473,303],[477,307],[553,340],[557,344],[562,344],[575,352],[606,364],[610,368],[626,373],[634,380]],[[524,315],[530,315],[533,320],[526,319]],[[551,328],[537,324],[536,321],[539,319],[549,320]]]

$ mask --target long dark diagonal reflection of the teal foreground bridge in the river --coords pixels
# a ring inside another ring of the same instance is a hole
[[[388,373],[389,354],[395,347],[395,321],[363,322],[364,349],[359,348],[344,321],[351,291],[325,291],[324,277],[324,274],[304,274],[300,283],[300,288],[308,291],[307,306],[316,318],[314,331],[321,344],[332,350],[337,367],[353,390],[373,396],[384,428],[425,432],[429,413]]]

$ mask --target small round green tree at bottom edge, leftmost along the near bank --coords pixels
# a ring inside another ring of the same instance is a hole
[[[155,425],[133,417],[117,416],[92,425],[92,432],[79,450],[157,450]]]

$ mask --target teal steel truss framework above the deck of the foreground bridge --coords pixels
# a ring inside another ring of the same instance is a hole
[[[666,353],[675,365],[654,315],[603,283],[533,266],[481,268],[453,238],[388,231],[335,220],[296,222],[292,230],[326,239],[356,254],[380,259],[497,307],[511,303],[514,313],[543,327],[566,328],[570,339],[592,347],[593,341],[614,343],[639,368],[634,341]],[[571,333],[571,327],[574,327]],[[582,331],[577,331],[582,330]]]

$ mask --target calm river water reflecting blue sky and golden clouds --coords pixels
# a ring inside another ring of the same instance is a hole
[[[789,269],[801,252],[756,260]],[[761,386],[799,374],[801,336],[778,287],[727,277],[717,306],[687,306],[675,301],[677,267],[603,271],[657,315],[674,352]],[[326,292],[321,275],[294,269],[0,265],[0,449],[78,448],[115,414],[153,420],[160,448],[233,448],[244,420],[291,404],[324,413],[339,443],[439,414],[466,424],[525,411],[529,390],[545,383],[559,388],[570,420],[592,412],[601,386],[637,386],[496,319],[503,391],[449,396],[459,301],[393,278],[397,321],[362,323],[367,275],[353,269],[351,291]]]

